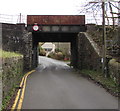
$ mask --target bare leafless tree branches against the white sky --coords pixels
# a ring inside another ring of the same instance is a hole
[[[97,15],[100,15],[102,13],[102,2],[103,0],[98,0],[97,2],[96,0],[88,1],[88,3],[84,5],[84,8],[80,11],[80,13],[92,13],[96,24],[98,24]],[[119,13],[116,12],[117,10],[120,10],[117,1],[108,0],[105,2],[105,18],[108,25],[110,25],[110,21],[112,20],[113,28],[115,28],[115,20],[118,19],[117,15]]]

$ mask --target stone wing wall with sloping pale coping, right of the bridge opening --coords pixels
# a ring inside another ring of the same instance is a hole
[[[79,69],[101,70],[101,55],[97,44],[87,33],[78,34]]]

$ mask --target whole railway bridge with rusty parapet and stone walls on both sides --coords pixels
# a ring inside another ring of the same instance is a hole
[[[3,50],[23,54],[25,70],[37,67],[39,42],[70,42],[75,68],[87,67],[91,61],[88,67],[92,68],[100,62],[90,41],[78,36],[86,31],[84,15],[28,15],[27,26],[2,23],[1,27]]]

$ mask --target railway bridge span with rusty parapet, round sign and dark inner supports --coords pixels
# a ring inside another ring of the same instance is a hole
[[[70,42],[71,62],[76,65],[76,37],[79,32],[86,31],[84,15],[28,15],[27,30],[32,32],[33,60],[37,60],[38,42]]]

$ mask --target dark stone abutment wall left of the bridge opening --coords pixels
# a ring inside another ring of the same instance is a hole
[[[2,48],[24,56],[24,70],[32,69],[32,33],[25,24],[2,24]]]

